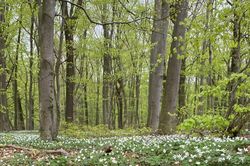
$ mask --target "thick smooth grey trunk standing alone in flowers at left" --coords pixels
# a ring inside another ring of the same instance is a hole
[[[40,12],[39,45],[39,102],[40,137],[43,140],[55,140],[57,137],[57,114],[54,97],[54,17],[55,0],[43,0]]]

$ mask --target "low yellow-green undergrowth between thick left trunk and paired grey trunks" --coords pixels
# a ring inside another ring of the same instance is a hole
[[[73,123],[63,123],[60,128],[60,133],[74,138],[114,137],[148,135],[151,133],[151,129],[144,127],[139,129],[126,128],[110,130],[105,125],[84,126]]]

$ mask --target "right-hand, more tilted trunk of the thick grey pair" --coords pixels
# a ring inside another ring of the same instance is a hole
[[[160,114],[159,132],[163,134],[173,133],[177,125],[177,100],[181,71],[180,56],[184,52],[184,38],[186,27],[183,21],[187,17],[188,1],[180,0],[175,5],[177,16],[174,19],[174,29],[171,43],[171,56],[168,61],[167,76],[165,82],[166,91],[162,98],[162,110]]]

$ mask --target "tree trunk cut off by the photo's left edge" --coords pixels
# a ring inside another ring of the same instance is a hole
[[[11,123],[7,110],[7,96],[6,96],[6,60],[5,60],[5,33],[4,33],[4,12],[5,2],[0,2],[0,131],[11,130]]]

